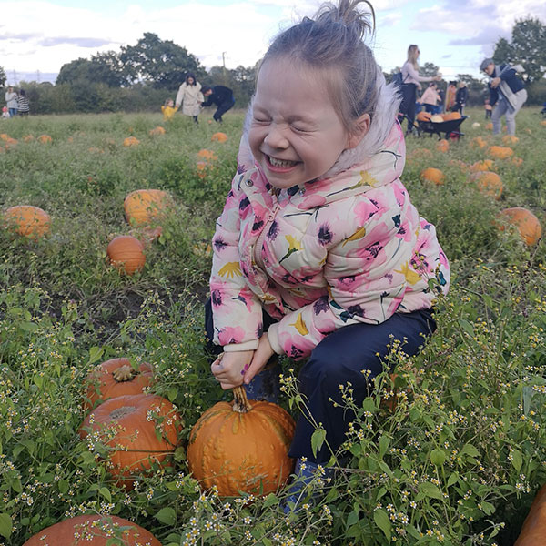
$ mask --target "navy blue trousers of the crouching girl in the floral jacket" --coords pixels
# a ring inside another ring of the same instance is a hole
[[[214,325],[210,301],[205,308],[208,339],[212,339]],[[275,320],[264,312],[264,330]],[[346,440],[349,422],[355,418],[347,410],[339,385],[352,385],[352,398],[357,407],[369,396],[370,379],[383,371],[383,362],[389,356],[389,346],[394,339],[402,343],[408,356],[414,356],[436,329],[430,309],[412,313],[395,313],[381,324],[351,324],[337,329],[323,339],[299,371],[298,389],[304,395],[307,409],[299,416],[294,440],[288,455],[294,458],[307,457],[317,463],[328,462],[330,450],[334,452]],[[215,347],[215,353],[221,348]],[[365,375],[362,370],[369,370]],[[335,407],[332,400],[341,404]],[[317,455],[311,449],[313,423],[322,423],[326,430],[325,444]]]

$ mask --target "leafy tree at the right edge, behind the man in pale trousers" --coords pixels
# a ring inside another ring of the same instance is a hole
[[[495,45],[493,60],[523,66],[529,84],[540,80],[546,71],[546,26],[532,17],[517,20],[511,42],[501,38]]]

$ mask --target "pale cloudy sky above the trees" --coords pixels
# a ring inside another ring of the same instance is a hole
[[[254,66],[279,31],[312,16],[320,0],[0,0],[0,66],[9,84],[55,83],[61,66],[135,45],[145,32],[172,40],[207,69]],[[376,33],[368,44],[385,72],[401,66],[408,45],[420,65],[445,79],[481,77],[480,61],[516,20],[546,24],[545,0],[375,0]]]

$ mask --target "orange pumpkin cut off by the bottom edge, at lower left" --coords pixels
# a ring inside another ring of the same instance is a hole
[[[122,539],[124,546],[161,546],[151,532],[132,521],[96,514],[60,521],[37,532],[23,546],[106,546],[113,537]]]

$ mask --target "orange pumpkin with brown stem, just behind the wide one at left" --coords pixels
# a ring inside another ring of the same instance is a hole
[[[134,368],[129,359],[105,360],[87,374],[84,409],[90,410],[99,400],[104,402],[126,394],[143,394],[152,377],[152,367],[147,362]]]

